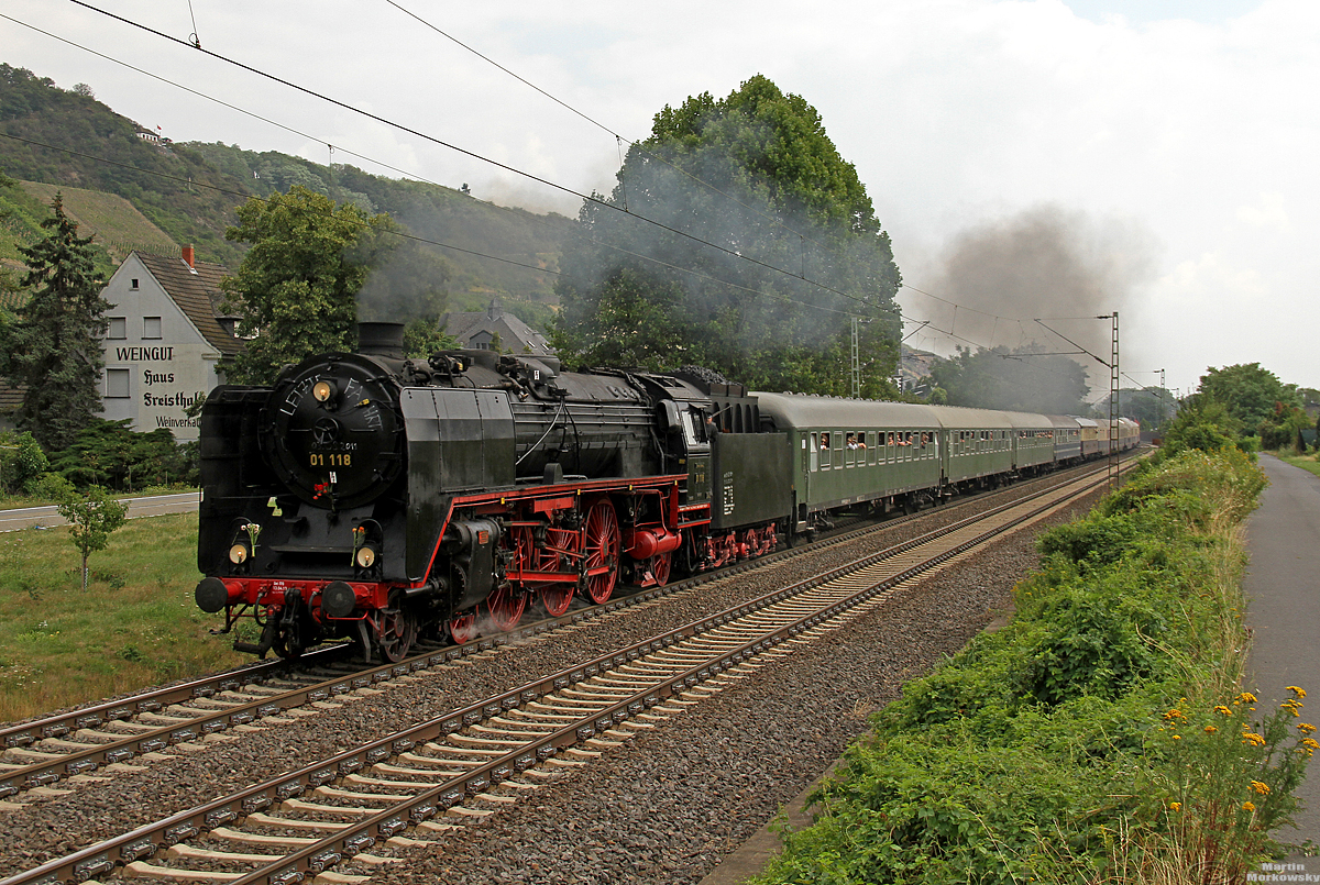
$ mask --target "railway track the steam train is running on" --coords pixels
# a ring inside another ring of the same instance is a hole
[[[1082,470],[1081,475],[1101,472],[1102,468]],[[1049,488],[1061,484],[1056,483]],[[1022,487],[1014,487],[1002,495],[1011,496],[1020,491]],[[950,513],[960,506],[986,503],[986,497],[978,496],[939,512]],[[929,513],[863,528],[845,526],[809,546],[747,561],[734,568],[803,555],[828,545],[886,532]],[[581,624],[586,619],[627,605],[649,603],[727,574],[729,570],[708,572],[663,588],[620,596],[602,605],[583,607],[561,617],[528,623],[515,630],[479,637],[463,645],[425,649],[399,663],[375,667],[351,665],[348,661],[352,646],[333,646],[308,653],[296,662],[257,662],[235,671],[12,725],[0,729],[0,801],[20,797],[28,790],[67,789],[78,782],[79,776],[137,770],[170,748],[189,747],[211,735],[255,728],[263,720],[279,721],[282,716],[333,707],[345,695],[359,688],[424,673],[466,656]]]

